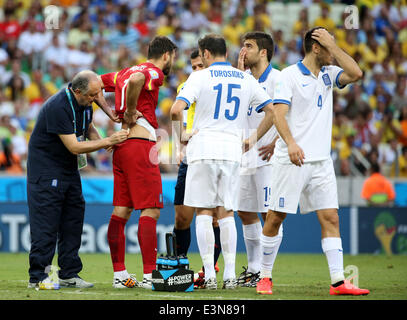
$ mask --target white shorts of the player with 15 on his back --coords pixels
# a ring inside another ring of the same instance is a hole
[[[188,163],[184,204],[195,208],[237,209],[239,162],[198,160]]]

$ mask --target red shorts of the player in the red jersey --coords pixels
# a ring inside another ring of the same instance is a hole
[[[113,205],[142,210],[163,208],[156,143],[129,138],[113,153]]]

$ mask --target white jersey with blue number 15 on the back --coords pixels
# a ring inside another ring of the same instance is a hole
[[[185,101],[188,107],[196,102],[192,130],[198,133],[188,143],[188,162],[204,159],[240,162],[249,106],[262,112],[271,102],[252,75],[229,62],[215,62],[191,73],[177,100]]]

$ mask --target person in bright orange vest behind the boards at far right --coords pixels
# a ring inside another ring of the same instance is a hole
[[[391,206],[396,198],[391,182],[380,173],[380,165],[373,163],[371,175],[365,180],[361,197],[369,206]]]

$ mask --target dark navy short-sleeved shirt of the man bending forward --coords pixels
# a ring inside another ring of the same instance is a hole
[[[69,89],[76,117],[76,136],[88,131],[92,107],[80,106]],[[85,116],[85,130],[83,118]],[[73,134],[74,115],[65,88],[50,97],[42,106],[28,143],[27,179],[39,177],[71,180],[77,178],[78,160],[62,143],[59,134]]]

